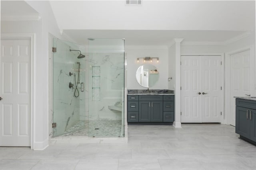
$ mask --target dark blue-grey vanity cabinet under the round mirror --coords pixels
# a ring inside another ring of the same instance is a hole
[[[128,95],[128,123],[172,123],[173,95]]]

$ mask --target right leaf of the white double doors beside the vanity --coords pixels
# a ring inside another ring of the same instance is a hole
[[[201,57],[202,122],[221,122],[221,57]]]

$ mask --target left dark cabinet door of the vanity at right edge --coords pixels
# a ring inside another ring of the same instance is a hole
[[[236,133],[250,138],[250,109],[236,106]]]

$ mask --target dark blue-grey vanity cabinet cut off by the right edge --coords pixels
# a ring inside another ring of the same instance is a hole
[[[236,133],[256,145],[256,101],[236,99]]]

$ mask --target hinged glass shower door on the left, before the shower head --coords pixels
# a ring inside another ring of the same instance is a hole
[[[56,52],[53,52],[52,80],[53,123],[56,123],[56,127],[53,128],[53,137],[87,136],[88,130],[85,129],[85,92],[82,92],[80,88],[82,82],[85,82],[85,59],[78,58],[79,51],[70,51],[70,49],[80,50],[84,54],[85,48],[60,39],[54,39],[53,41],[56,48]],[[78,73],[80,83],[77,83]]]

